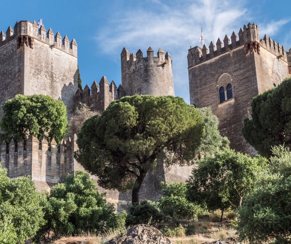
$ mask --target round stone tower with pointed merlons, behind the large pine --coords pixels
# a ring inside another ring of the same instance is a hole
[[[121,86],[120,94],[126,96],[147,95],[175,96],[172,72],[172,59],[168,52],[165,54],[160,48],[158,56],[154,57],[154,50],[149,47],[147,57],[143,57],[139,49],[134,55],[129,54],[124,47],[121,52]]]

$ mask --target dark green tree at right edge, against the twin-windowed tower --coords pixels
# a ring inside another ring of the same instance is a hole
[[[253,98],[252,119],[245,118],[242,133],[263,156],[271,147],[291,146],[291,78]]]

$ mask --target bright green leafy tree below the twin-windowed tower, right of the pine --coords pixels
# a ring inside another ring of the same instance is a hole
[[[189,199],[206,204],[209,210],[225,210],[241,206],[244,196],[253,191],[266,170],[267,159],[224,150],[197,164],[188,180]]]

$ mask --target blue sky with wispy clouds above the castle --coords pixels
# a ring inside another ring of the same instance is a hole
[[[62,37],[75,38],[83,87],[105,75],[121,82],[120,53],[125,46],[144,54],[149,46],[161,47],[173,60],[175,93],[189,102],[187,53],[199,44],[201,27],[206,46],[225,34],[255,22],[264,34],[289,50],[291,1],[5,1],[1,2],[0,29],[16,20],[39,20]]]

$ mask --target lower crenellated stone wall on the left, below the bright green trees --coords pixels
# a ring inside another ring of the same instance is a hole
[[[26,141],[13,139],[9,144],[5,141],[0,146],[2,167],[8,169],[9,177],[31,175],[33,181],[58,183],[68,173],[74,172],[76,164],[74,151],[77,149],[77,136],[64,139],[57,144],[54,139],[50,143],[30,135]],[[77,166],[79,167],[79,166]]]

